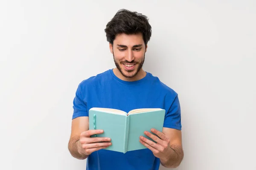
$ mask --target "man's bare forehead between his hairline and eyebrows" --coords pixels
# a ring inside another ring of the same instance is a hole
[[[143,44],[143,35],[140,34],[118,34],[116,35],[115,40],[113,41],[113,45],[126,45],[128,47],[132,47],[133,45]]]

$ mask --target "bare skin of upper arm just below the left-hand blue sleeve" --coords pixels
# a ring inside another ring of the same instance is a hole
[[[80,134],[89,130],[89,117],[81,116],[72,120],[70,140],[79,140]]]

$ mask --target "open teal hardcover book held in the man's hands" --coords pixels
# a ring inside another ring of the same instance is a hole
[[[111,108],[91,108],[89,110],[89,129],[102,129],[102,134],[91,137],[109,137],[112,145],[105,150],[126,153],[145,149],[140,136],[153,141],[144,134],[155,128],[162,132],[165,110],[161,108],[134,109],[128,113]],[[151,132],[152,133],[152,132]]]

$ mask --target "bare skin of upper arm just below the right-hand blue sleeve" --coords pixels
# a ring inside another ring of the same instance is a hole
[[[170,139],[170,146],[176,144],[182,147],[181,130],[163,127],[163,134]]]

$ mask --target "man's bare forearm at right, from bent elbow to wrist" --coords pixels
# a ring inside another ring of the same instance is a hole
[[[183,149],[179,145],[172,145],[169,147],[168,154],[165,158],[160,159],[164,167],[176,168],[180,165],[183,159]]]

